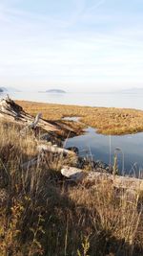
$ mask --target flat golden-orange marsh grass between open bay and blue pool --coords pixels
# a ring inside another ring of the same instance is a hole
[[[76,105],[39,104],[17,101],[31,114],[42,112],[47,120],[60,120],[65,116],[80,116],[87,126],[103,134],[126,134],[143,131],[143,111],[128,108],[90,107]]]

